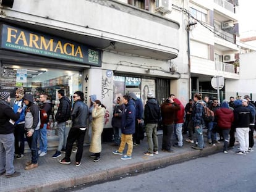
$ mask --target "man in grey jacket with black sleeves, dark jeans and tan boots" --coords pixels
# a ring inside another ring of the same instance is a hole
[[[41,122],[39,107],[34,104],[33,95],[25,94],[23,99],[25,105],[27,106],[25,111],[25,135],[32,155],[31,161],[25,163],[25,170],[30,170],[38,167],[37,141],[39,138],[39,129]]]

